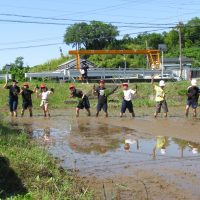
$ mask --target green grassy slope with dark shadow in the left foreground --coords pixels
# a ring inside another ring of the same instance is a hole
[[[0,125],[0,199],[92,199],[87,185],[28,134]]]

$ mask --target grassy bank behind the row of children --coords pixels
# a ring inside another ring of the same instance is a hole
[[[31,82],[30,88],[34,88],[39,82]],[[21,86],[22,83],[19,83]],[[47,83],[48,88],[53,87],[55,89],[55,93],[49,97],[49,105],[50,108],[69,108],[75,107],[76,103],[73,104],[64,104],[65,100],[70,100],[69,98],[69,83]],[[75,84],[78,89],[84,91],[84,93],[91,94],[93,84]],[[96,84],[97,85],[97,84]],[[185,105],[186,95],[185,91],[187,87],[190,85],[189,82],[168,82],[166,85],[166,96],[167,102],[169,106],[180,106]],[[130,88],[134,89],[136,86],[135,83],[130,84]],[[137,83],[138,93],[133,100],[133,104],[135,107],[151,107],[155,105],[154,96],[155,92],[153,86],[150,83]],[[114,87],[112,84],[107,84],[107,87]],[[0,88],[3,88],[3,84],[0,84]],[[119,88],[113,95],[109,96],[110,107],[120,107],[121,104],[121,91]],[[90,95],[92,97],[92,95]],[[0,105],[2,108],[6,108],[8,102],[8,90],[2,89],[0,93]],[[95,107],[97,100],[93,97],[90,100],[91,106]],[[34,109],[39,109],[40,98],[36,98],[36,95],[33,94],[33,107]],[[21,107],[21,97],[19,97],[19,107]]]

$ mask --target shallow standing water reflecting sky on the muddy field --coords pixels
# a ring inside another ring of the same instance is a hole
[[[101,123],[72,124],[67,130],[35,129],[33,137],[47,145],[67,169],[80,175],[128,175],[130,169],[181,168],[200,158],[200,144]]]

